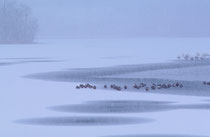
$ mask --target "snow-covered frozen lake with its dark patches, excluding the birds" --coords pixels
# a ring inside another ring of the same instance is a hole
[[[208,137],[208,38],[39,39],[0,45],[0,137]],[[135,90],[135,82],[183,88]],[[80,83],[97,89],[75,89]],[[128,85],[127,90],[104,84]],[[160,94],[159,94],[160,93]]]

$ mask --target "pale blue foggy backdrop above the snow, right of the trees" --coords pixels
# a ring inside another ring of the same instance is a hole
[[[210,36],[209,0],[21,0],[40,36]]]

